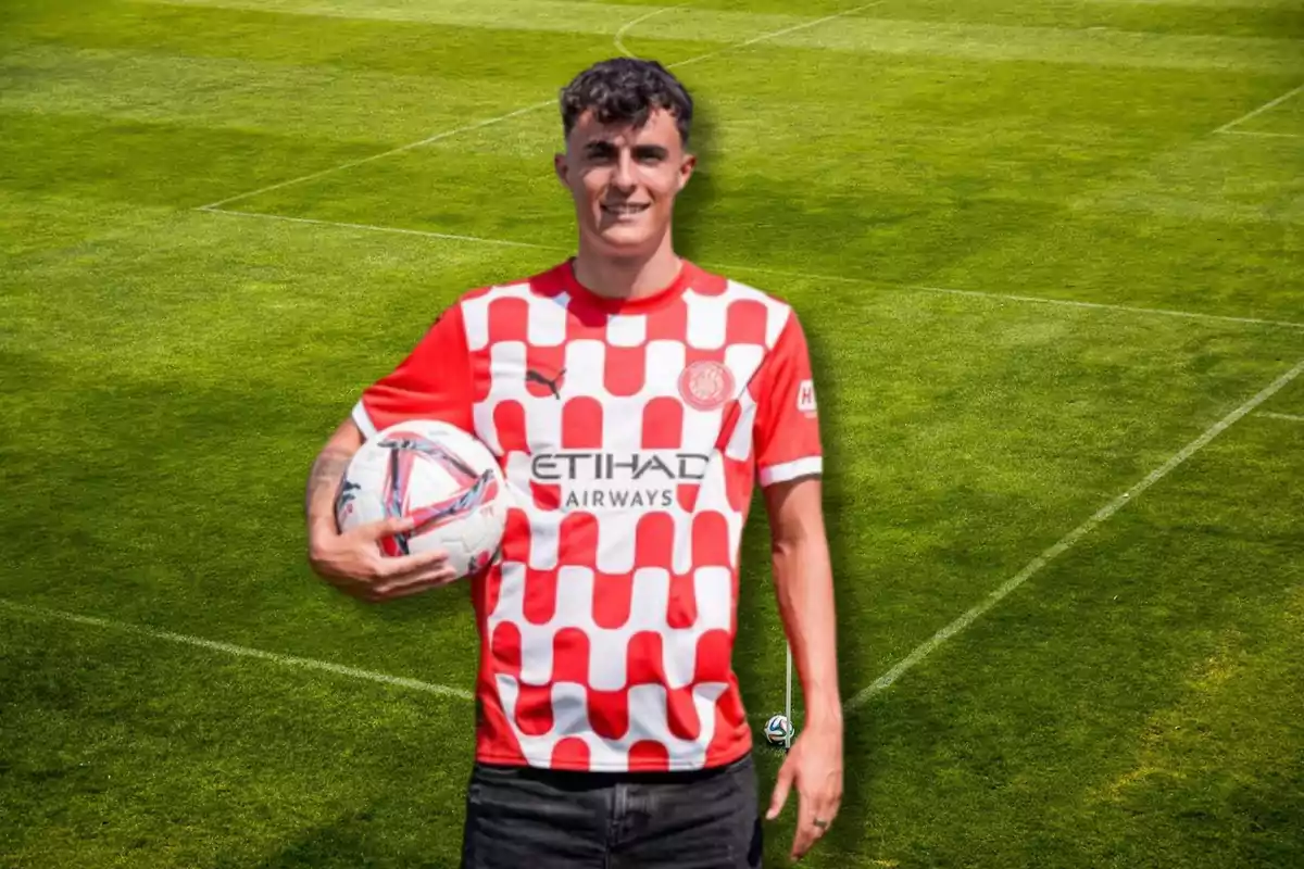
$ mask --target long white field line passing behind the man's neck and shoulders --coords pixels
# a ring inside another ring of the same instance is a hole
[[[235,211],[230,208],[216,208],[213,206],[205,206],[198,208],[198,211],[207,211],[210,214],[228,214],[237,218],[258,218],[262,220],[283,220],[286,223],[304,223],[317,227],[339,227],[344,229],[361,229],[365,232],[391,232],[400,236],[420,236],[425,238],[441,238],[443,241],[464,241],[471,244],[481,245],[498,245],[510,248],[533,248],[539,250],[558,250],[569,251],[570,248],[559,248],[554,245],[536,245],[526,241],[507,241],[505,238],[484,238],[481,236],[459,236],[446,232],[428,232],[424,229],[400,229],[398,227],[381,227],[368,223],[342,223],[339,220],[317,220],[313,218],[287,218],[279,214],[261,214],[257,211]],[[999,298],[1012,302],[1028,302],[1034,305],[1063,305],[1067,307],[1086,307],[1107,311],[1123,311],[1128,314],[1153,314],[1161,317],[1183,317],[1187,319],[1201,319],[1211,321],[1218,323],[1244,323],[1249,326],[1273,326],[1281,328],[1297,328],[1304,330],[1304,323],[1292,323],[1290,321],[1273,321],[1273,319],[1258,319],[1254,317],[1228,317],[1226,314],[1198,314],[1193,311],[1176,311],[1166,307],[1137,307],[1133,305],[1108,305],[1106,302],[1080,302],[1068,298],[1046,298],[1043,296],[1016,296],[1012,293],[990,293],[979,289],[953,289],[948,287],[928,287],[925,284],[897,284],[885,280],[871,280],[868,278],[846,278],[845,275],[819,275],[814,272],[803,271],[788,271],[781,268],[764,268],[762,266],[730,266],[721,263],[700,263],[705,268],[720,271],[724,274],[735,271],[754,271],[762,275],[782,275],[784,278],[801,278],[803,280],[827,280],[837,284],[857,284],[861,287],[895,287],[898,289],[913,289],[926,293],[944,293],[948,296],[973,296],[975,298]]]

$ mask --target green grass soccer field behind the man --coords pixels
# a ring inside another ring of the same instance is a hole
[[[4,0],[0,865],[456,865],[466,589],[333,591],[303,485],[449,301],[567,254],[553,100],[622,51],[699,103],[681,249],[816,360],[808,864],[1304,865],[1299,0]]]

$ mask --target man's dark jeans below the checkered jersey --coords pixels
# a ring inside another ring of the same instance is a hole
[[[476,763],[463,869],[758,869],[751,757],[696,773]]]

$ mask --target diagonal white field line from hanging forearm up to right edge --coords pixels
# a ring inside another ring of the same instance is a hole
[[[854,697],[846,701],[845,704],[846,709],[853,710],[863,705],[866,701],[868,701],[879,692],[891,687],[892,683],[900,679],[904,672],[914,667],[925,658],[927,658],[934,649],[936,649],[943,642],[945,642],[947,640],[949,640],[951,637],[953,637],[955,634],[960,633],[970,624],[973,624],[982,614],[985,614],[987,610],[1000,603],[1000,601],[1005,595],[1008,595],[1011,591],[1013,591],[1020,585],[1031,578],[1034,575],[1037,575],[1038,571],[1050,564],[1055,558],[1067,551],[1071,546],[1073,546],[1077,541],[1089,534],[1098,525],[1101,525],[1107,519],[1114,516],[1114,513],[1119,512],[1119,509],[1121,509],[1128,502],[1131,502],[1141,492],[1148,490],[1150,486],[1155,485],[1157,482],[1167,477],[1175,468],[1178,468],[1181,463],[1187,461],[1187,459],[1191,459],[1193,455],[1200,452],[1204,447],[1209,444],[1210,440],[1213,440],[1223,431],[1226,431],[1237,420],[1240,420],[1247,413],[1249,413],[1251,410],[1261,405],[1264,401],[1270,399],[1273,395],[1277,393],[1278,390],[1284,387],[1287,383],[1297,378],[1301,371],[1304,371],[1304,360],[1296,362],[1295,367],[1292,367],[1290,371],[1273,380],[1264,390],[1261,390],[1254,397],[1249,399],[1243,405],[1228,413],[1226,417],[1223,417],[1214,425],[1209,426],[1209,429],[1206,429],[1204,434],[1201,434],[1198,438],[1196,438],[1185,447],[1183,447],[1175,456],[1168,459],[1168,461],[1163,463],[1162,465],[1151,470],[1149,474],[1146,474],[1141,482],[1124,491],[1121,495],[1111,500],[1101,509],[1095,511],[1095,513],[1090,519],[1088,519],[1085,522],[1082,522],[1072,532],[1065,534],[1058,543],[1051,546],[1048,550],[1046,550],[1045,552],[1034,558],[1031,562],[1029,562],[1024,567],[1024,569],[1021,569],[1018,573],[1001,582],[995,591],[988,594],[975,607],[973,607],[971,610],[961,615],[958,619],[944,627],[941,631],[938,631],[938,633],[932,634],[931,638],[926,640],[919,646],[917,646],[914,651],[902,658],[895,667],[892,667],[885,674],[875,679],[872,684],[861,689]]]

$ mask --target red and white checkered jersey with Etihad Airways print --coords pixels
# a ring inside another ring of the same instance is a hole
[[[566,262],[451,306],[353,410],[475,433],[516,495],[472,577],[476,758],[565,770],[732,762],[751,731],[732,666],[754,481],[822,469],[792,307],[685,262],[604,298]]]

